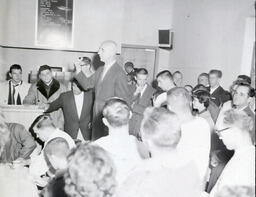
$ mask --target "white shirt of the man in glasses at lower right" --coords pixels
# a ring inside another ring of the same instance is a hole
[[[210,197],[214,197],[225,186],[255,187],[255,147],[253,145],[235,150],[213,187]]]

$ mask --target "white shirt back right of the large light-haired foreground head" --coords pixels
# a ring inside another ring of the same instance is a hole
[[[194,117],[181,125],[181,139],[177,149],[181,156],[195,162],[202,187],[206,181],[209,164],[210,137],[210,126],[201,117]]]

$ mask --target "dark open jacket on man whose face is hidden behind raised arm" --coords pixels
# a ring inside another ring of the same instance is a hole
[[[62,93],[58,99],[50,103],[46,113],[62,109],[64,114],[64,131],[73,139],[77,138],[78,130],[85,140],[91,140],[89,123],[91,122],[91,110],[93,105],[92,90],[84,92],[83,108],[80,118],[77,114],[75,97],[72,91]]]

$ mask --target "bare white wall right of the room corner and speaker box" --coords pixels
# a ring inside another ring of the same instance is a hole
[[[200,72],[223,71],[228,88],[241,68],[246,18],[255,16],[253,0],[176,0],[171,70],[195,85]]]

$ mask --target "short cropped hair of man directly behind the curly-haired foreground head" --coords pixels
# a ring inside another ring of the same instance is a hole
[[[48,159],[49,156],[55,155],[59,158],[66,158],[68,156],[70,147],[68,142],[62,137],[51,139],[44,148],[44,154]]]

